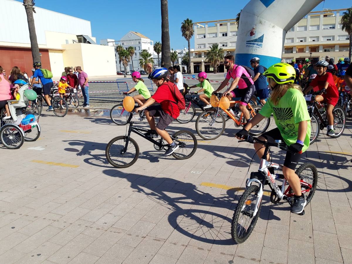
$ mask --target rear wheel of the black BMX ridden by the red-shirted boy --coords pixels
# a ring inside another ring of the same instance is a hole
[[[176,159],[188,159],[196,152],[197,139],[194,134],[188,130],[177,131],[171,138],[178,145],[178,149],[172,153],[172,156]]]

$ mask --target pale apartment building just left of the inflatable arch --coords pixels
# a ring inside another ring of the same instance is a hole
[[[237,23],[235,19],[202,21],[194,23],[194,52],[191,58],[191,72],[212,72],[213,67],[206,62],[206,53],[213,44],[225,50],[224,54],[232,54],[236,50]],[[224,72],[224,64],[220,64],[218,72]]]

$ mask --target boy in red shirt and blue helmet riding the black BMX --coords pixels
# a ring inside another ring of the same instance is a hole
[[[169,144],[165,155],[170,156],[178,149],[178,145],[171,139],[165,128],[180,115],[180,109],[178,109],[177,106],[176,96],[172,94],[168,82],[166,81],[166,76],[168,76],[169,73],[168,69],[162,67],[156,68],[153,71],[151,71],[151,69],[152,65],[149,63],[147,65],[147,70],[150,73],[148,78],[156,84],[158,89],[151,98],[142,106],[134,109],[134,111],[137,113],[146,108],[144,114],[151,130],[145,135],[149,137],[161,136]],[[155,102],[160,103],[160,105],[152,105]],[[155,125],[154,117],[159,117],[157,125]]]

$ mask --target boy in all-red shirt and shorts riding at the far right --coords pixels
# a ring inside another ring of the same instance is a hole
[[[339,99],[339,92],[332,74],[326,71],[328,65],[329,63],[327,61],[319,61],[315,64],[318,75],[313,79],[310,86],[304,91],[304,93],[307,94],[312,89],[316,91],[323,89],[326,90],[326,94],[321,93],[321,95],[315,96],[315,101],[326,103],[326,115],[328,118],[328,132],[326,135],[333,137],[335,136],[335,131],[332,110]]]

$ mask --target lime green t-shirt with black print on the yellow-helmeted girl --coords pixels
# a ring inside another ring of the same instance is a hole
[[[297,89],[289,88],[277,105],[274,106],[269,99],[259,111],[259,114],[270,117],[271,113],[282,138],[288,146],[297,141],[298,123],[304,120],[308,121],[307,134],[302,148],[302,151],[306,151],[310,138],[310,117],[303,94]]]

